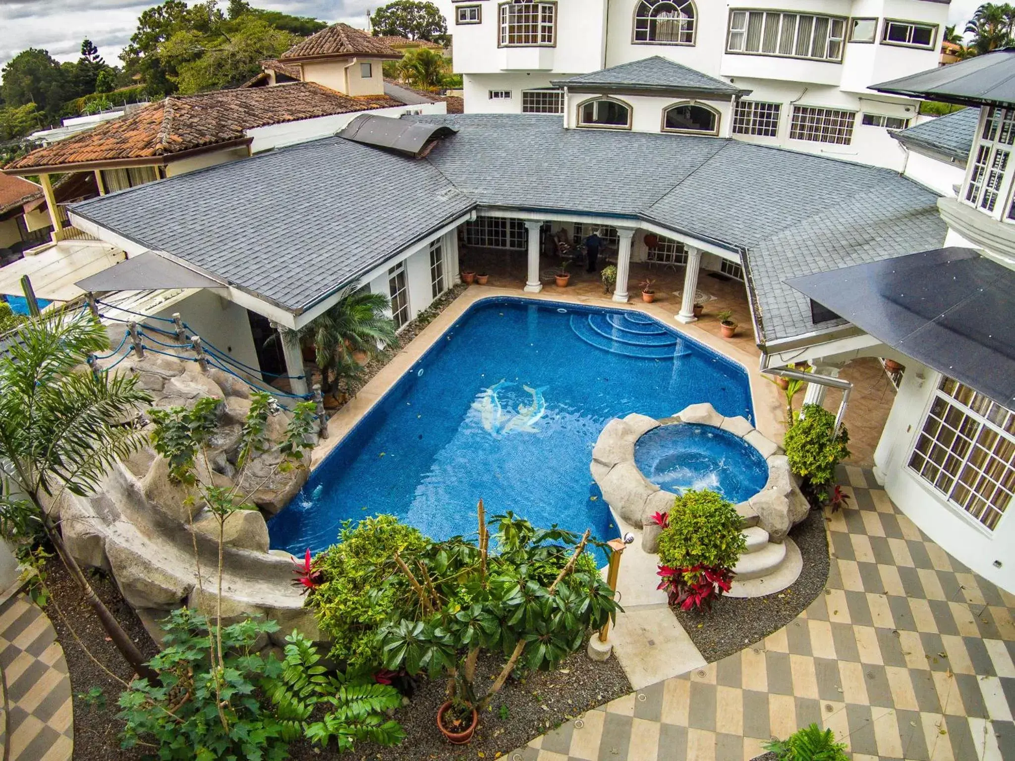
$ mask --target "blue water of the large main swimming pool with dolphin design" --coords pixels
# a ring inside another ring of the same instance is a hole
[[[627,317],[626,315],[629,315]],[[268,523],[272,548],[324,549],[341,523],[389,512],[434,539],[514,510],[616,536],[592,481],[611,417],[712,402],[752,418],[747,373],[637,314],[524,298],[471,306]]]

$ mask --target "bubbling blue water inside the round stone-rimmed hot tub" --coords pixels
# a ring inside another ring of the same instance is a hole
[[[661,425],[634,444],[634,465],[656,486],[675,494],[712,489],[733,503],[764,488],[768,465],[761,454],[712,425]]]

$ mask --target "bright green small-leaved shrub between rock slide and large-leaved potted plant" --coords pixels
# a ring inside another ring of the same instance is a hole
[[[332,639],[332,658],[350,668],[381,665],[378,628],[416,602],[405,575],[397,572],[395,551],[411,558],[428,546],[416,529],[394,515],[378,515],[355,527],[347,522],[338,544],[314,559],[324,580],[309,603]]]

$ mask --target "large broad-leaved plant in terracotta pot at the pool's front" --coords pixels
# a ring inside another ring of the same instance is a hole
[[[550,670],[619,607],[586,547],[595,540],[561,529],[536,529],[511,512],[485,518],[476,540],[452,537],[394,560],[415,604],[401,606],[380,633],[384,667],[448,679],[437,711],[441,732],[468,742],[479,716],[515,667]],[[489,552],[491,535],[497,552]],[[507,660],[485,695],[476,691],[481,651]]]

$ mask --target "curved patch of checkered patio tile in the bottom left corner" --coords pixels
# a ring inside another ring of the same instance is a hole
[[[68,761],[74,721],[67,662],[53,624],[23,594],[0,605],[0,671],[6,697],[3,758]]]

